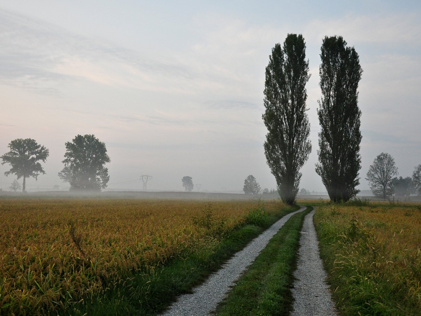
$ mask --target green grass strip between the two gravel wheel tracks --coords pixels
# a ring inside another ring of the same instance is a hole
[[[296,266],[304,216],[294,214],[258,255],[247,272],[218,305],[217,316],[286,315],[292,309],[293,270]]]

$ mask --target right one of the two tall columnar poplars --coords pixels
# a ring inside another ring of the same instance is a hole
[[[354,47],[346,46],[341,36],[323,39],[320,64],[320,88],[317,115],[319,163],[316,172],[322,178],[332,201],[348,201],[360,190],[361,169],[358,83],[362,69]]]

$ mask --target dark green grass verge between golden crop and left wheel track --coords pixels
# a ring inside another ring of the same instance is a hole
[[[114,285],[113,291],[103,291],[72,306],[69,315],[157,315],[176,299],[191,292],[213,271],[218,270],[233,254],[243,249],[253,238],[298,206],[285,207],[265,218],[263,225],[246,225],[226,237],[213,251],[196,253],[184,260],[173,260],[152,274],[137,273]],[[64,313],[63,313],[64,314]]]

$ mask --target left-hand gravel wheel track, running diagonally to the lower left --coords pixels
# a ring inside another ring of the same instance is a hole
[[[193,289],[192,294],[179,296],[178,300],[163,313],[163,316],[194,316],[209,315],[216,305],[224,299],[230,286],[236,281],[258,256],[269,240],[298,212],[304,211],[302,206],[298,211],[285,215],[261,235],[254,238],[243,250],[237,252],[220,270],[209,276],[208,280]]]

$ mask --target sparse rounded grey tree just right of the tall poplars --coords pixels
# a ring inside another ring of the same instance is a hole
[[[368,168],[367,178],[373,195],[387,198],[393,194],[392,178],[398,174],[394,159],[388,153],[381,153]]]

